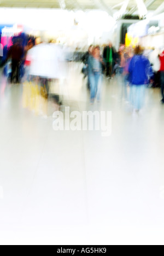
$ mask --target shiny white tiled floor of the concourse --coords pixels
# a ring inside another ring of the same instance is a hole
[[[73,110],[112,110],[110,137],[55,132],[52,118],[22,108],[22,85],[1,76],[0,243],[163,244],[160,91],[147,89],[143,113],[133,116],[116,80],[104,78],[102,101],[90,106],[80,69],[71,64],[67,102]]]

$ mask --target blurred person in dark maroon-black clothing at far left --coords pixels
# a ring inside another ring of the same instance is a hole
[[[24,48],[21,46],[20,42],[16,42],[12,45],[8,51],[8,59],[11,59],[11,83],[14,81],[14,76],[16,77],[16,83],[19,83],[19,69],[20,61],[24,56]]]

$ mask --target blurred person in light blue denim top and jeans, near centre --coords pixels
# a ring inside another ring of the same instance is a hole
[[[102,65],[103,59],[100,54],[99,46],[93,48],[92,55],[89,56],[88,65],[89,65],[89,81],[90,81],[90,100],[91,103],[100,100],[100,88],[101,88],[101,75],[102,75]]]

